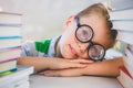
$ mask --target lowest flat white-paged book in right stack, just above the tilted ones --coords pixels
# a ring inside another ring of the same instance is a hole
[[[133,32],[117,31],[116,40],[127,44],[133,44]]]

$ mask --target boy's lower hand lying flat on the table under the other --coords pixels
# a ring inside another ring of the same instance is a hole
[[[60,69],[60,70],[44,70],[39,73],[39,75],[48,77],[78,77],[82,76],[82,68],[70,68],[70,69]]]

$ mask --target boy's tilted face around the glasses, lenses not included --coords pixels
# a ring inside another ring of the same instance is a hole
[[[102,16],[92,15],[90,18],[80,18],[80,24],[90,25],[93,29],[92,42],[99,43],[105,47],[108,40],[105,38],[108,26]],[[59,41],[59,52],[64,58],[86,58],[88,46],[90,43],[82,43],[75,37],[75,30],[78,29],[75,16],[72,15],[65,22],[62,36]]]

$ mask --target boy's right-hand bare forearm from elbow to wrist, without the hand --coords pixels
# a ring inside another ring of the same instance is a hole
[[[115,59],[89,64],[88,67],[82,70],[83,75],[117,76],[120,74],[119,67],[122,65],[122,57],[117,57]]]

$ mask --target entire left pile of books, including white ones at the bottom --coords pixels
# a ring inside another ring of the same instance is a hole
[[[0,12],[0,88],[30,88],[33,67],[17,66],[21,52],[21,14]]]

